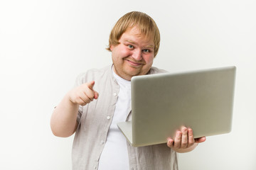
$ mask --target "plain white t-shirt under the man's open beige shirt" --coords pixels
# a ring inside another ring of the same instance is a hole
[[[124,122],[131,109],[131,81],[122,79],[114,71],[113,74],[120,89],[110,130],[107,134],[107,141],[100,156],[98,169],[129,170],[127,140],[117,128],[117,123]]]

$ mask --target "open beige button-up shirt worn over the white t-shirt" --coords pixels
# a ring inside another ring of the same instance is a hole
[[[166,71],[152,67],[148,74],[161,72]],[[92,80],[95,81],[94,89],[99,93],[99,98],[86,106],[80,106],[78,129],[73,142],[73,170],[97,169],[117,103],[119,85],[112,74],[112,66],[103,69],[90,69],[84,74],[80,74],[76,86]],[[131,112],[127,113],[127,120],[131,119]],[[176,152],[166,144],[132,147],[127,142],[127,149],[129,169],[178,169]]]

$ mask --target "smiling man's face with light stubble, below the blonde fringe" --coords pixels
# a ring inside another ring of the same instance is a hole
[[[127,80],[149,72],[154,60],[153,36],[145,37],[134,27],[126,30],[119,42],[110,46],[114,72]]]

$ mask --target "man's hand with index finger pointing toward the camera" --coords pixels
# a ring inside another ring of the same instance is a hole
[[[97,99],[99,94],[93,90],[95,81],[82,84],[68,93],[69,99],[74,104],[85,106],[87,103]]]

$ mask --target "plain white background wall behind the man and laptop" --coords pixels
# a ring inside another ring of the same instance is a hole
[[[256,169],[255,8],[252,0],[1,1],[0,169],[71,169],[73,137],[54,137],[50,115],[78,74],[112,63],[108,36],[129,11],[159,26],[154,66],[237,67],[232,132],[178,154],[180,169]]]

